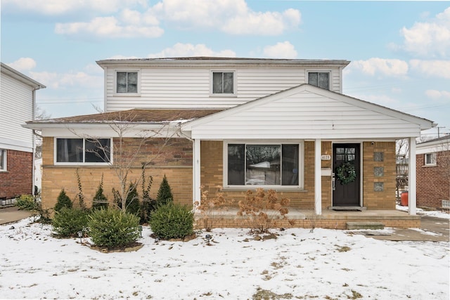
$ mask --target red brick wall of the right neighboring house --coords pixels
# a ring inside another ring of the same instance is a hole
[[[425,166],[425,155],[416,155],[416,197],[418,207],[442,208],[450,200],[450,150],[437,152],[436,166]]]

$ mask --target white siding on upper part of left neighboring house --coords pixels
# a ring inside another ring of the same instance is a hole
[[[32,152],[32,130],[21,126],[32,119],[32,87],[1,73],[0,148]]]

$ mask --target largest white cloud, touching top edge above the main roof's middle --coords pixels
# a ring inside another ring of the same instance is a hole
[[[229,34],[281,34],[300,25],[300,11],[252,11],[245,0],[163,0],[151,8],[158,18],[177,27],[217,29]]]

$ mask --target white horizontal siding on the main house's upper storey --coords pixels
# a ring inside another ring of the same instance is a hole
[[[153,67],[139,69],[140,93],[115,93],[115,72],[106,70],[106,111],[131,108],[227,108],[305,83],[307,70],[301,67]],[[236,72],[236,95],[210,94],[211,70]],[[327,70],[330,70],[328,68]],[[333,91],[340,91],[340,70],[332,69]]]

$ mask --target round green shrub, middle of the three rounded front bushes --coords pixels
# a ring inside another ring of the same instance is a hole
[[[122,247],[139,238],[139,217],[120,209],[98,209],[89,216],[91,239],[98,247]]]

